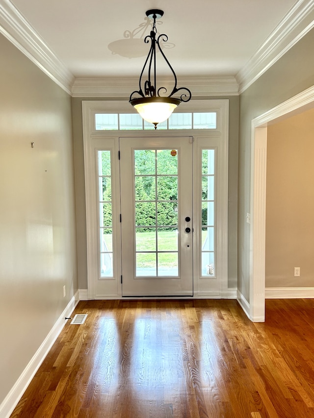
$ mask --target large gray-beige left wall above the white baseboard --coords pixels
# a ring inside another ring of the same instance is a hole
[[[0,51],[1,403],[78,279],[71,97],[2,35]]]

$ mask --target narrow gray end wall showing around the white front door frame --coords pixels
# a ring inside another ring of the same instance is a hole
[[[193,93],[193,92],[192,92]],[[209,97],[209,99],[229,99],[229,206],[228,206],[228,287],[237,286],[237,161],[238,161],[238,112],[239,98]],[[197,99],[197,97],[195,98]],[[100,98],[73,98],[73,131],[75,152],[75,183],[78,233],[78,287],[87,289],[86,262],[86,213],[84,156],[82,133],[82,100]],[[125,98],[128,100],[128,98]]]

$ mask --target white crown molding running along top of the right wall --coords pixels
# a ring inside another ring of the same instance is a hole
[[[236,74],[239,94],[250,87],[313,27],[314,1],[297,1],[247,64]]]

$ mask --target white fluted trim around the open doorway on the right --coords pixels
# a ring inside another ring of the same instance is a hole
[[[267,124],[279,122],[314,107],[314,86],[252,120],[250,301],[247,315],[265,320],[265,221]]]

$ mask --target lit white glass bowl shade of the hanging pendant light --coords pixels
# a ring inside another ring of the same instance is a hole
[[[144,121],[153,123],[156,127],[158,123],[164,122],[170,117],[181,100],[167,97],[145,97],[133,98],[130,102]]]

